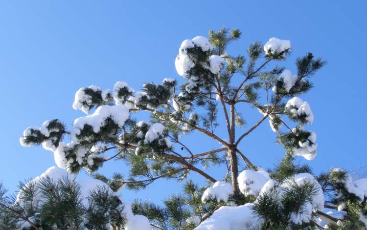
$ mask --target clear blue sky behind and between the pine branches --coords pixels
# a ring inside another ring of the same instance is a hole
[[[276,64],[293,72],[295,59],[308,51],[327,60],[313,77],[315,88],[302,96],[314,112],[315,122],[307,128],[317,133],[319,144],[318,156],[307,163],[316,173],[332,166],[366,166],[367,4],[341,2],[1,1],[0,180],[15,191],[17,181],[34,178],[54,165],[52,152],[22,147],[19,137],[27,126],[45,120],[59,118],[70,127],[84,116],[71,107],[80,87],[112,88],[116,81],[126,81],[139,90],[141,84],[160,83],[163,78],[182,83],[174,67],[181,42],[222,26],[243,32],[242,39],[229,47],[232,55],[245,54],[255,40],[265,43],[277,37],[291,40],[293,52],[288,61]],[[260,118],[249,108],[243,115],[249,125]],[[225,138],[224,129],[218,133]],[[193,134],[184,142],[195,152],[220,147],[206,137],[198,138]],[[240,148],[265,168],[283,155],[268,122]],[[112,162],[101,172],[112,175],[127,169],[123,162]],[[217,179],[225,174],[222,168],[209,171]],[[190,178],[204,183],[194,173]],[[175,181],[161,180],[143,191],[123,190],[122,196],[160,202],[180,190]]]

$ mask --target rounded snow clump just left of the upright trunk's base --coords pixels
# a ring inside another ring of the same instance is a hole
[[[233,195],[232,185],[225,181],[217,181],[212,187],[206,188],[201,198],[202,202],[217,199],[218,202],[228,202],[230,195]]]

